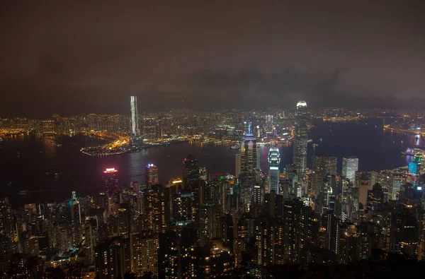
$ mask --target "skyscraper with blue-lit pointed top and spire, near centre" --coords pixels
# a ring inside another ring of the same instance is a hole
[[[249,203],[251,202],[251,191],[256,182],[257,161],[256,138],[251,132],[251,123],[248,124],[248,131],[244,136],[241,153],[241,200],[244,203],[245,210],[247,210],[249,208]]]

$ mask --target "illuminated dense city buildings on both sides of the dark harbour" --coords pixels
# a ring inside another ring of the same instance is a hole
[[[2,119],[3,131],[10,133],[107,131],[136,140],[232,136],[239,137],[240,152],[234,174],[208,173],[188,155],[182,158],[181,177],[165,185],[159,184],[161,170],[152,162],[145,167],[145,182],[128,184],[120,179],[120,170],[104,170],[103,191],[96,196],[72,192],[62,203],[30,203],[18,209],[2,198],[1,274],[258,278],[288,271],[284,265],[301,272],[312,265],[382,260],[392,254],[425,259],[423,151],[415,150],[412,162],[395,170],[358,172],[358,158],[338,162],[331,154],[314,154],[312,168],[307,168],[312,118],[337,121],[392,114],[374,113],[314,112],[300,101],[295,112],[286,114],[279,109],[196,114],[174,110],[141,117],[132,109],[130,118],[89,114]],[[418,115],[414,118],[421,119]],[[282,169],[283,141],[293,144],[293,164]],[[268,165],[261,166],[258,150],[265,143],[271,146]]]

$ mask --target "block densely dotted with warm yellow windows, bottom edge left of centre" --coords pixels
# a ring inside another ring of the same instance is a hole
[[[158,235],[153,231],[133,232],[130,235],[131,272],[137,276],[158,275]]]

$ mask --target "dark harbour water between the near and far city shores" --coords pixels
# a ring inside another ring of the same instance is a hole
[[[356,155],[359,170],[386,170],[407,165],[412,156],[402,155],[408,147],[424,148],[424,138],[393,133],[382,129],[381,119],[357,122],[314,121],[309,133],[307,166],[313,153],[334,154],[341,171],[342,157]],[[322,141],[320,141],[322,138]],[[182,161],[188,154],[198,158],[208,173],[234,174],[235,155],[239,150],[212,143],[174,143],[142,150],[139,153],[94,158],[79,152],[81,146],[64,144],[57,147],[35,136],[4,138],[0,149],[0,196],[8,196],[13,206],[36,201],[63,201],[71,196],[96,194],[103,188],[102,171],[115,167],[120,184],[145,180],[145,165],[152,162],[159,168],[159,182],[166,184],[181,177]],[[17,153],[20,153],[18,156]],[[261,146],[261,167],[267,167],[268,147]],[[281,170],[292,162],[292,146],[280,149]],[[58,173],[47,176],[46,172]],[[26,191],[28,190],[28,191]],[[19,194],[25,191],[26,194]]]

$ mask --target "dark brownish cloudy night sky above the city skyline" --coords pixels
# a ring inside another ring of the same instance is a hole
[[[425,107],[421,1],[64,2],[1,1],[0,117]]]

